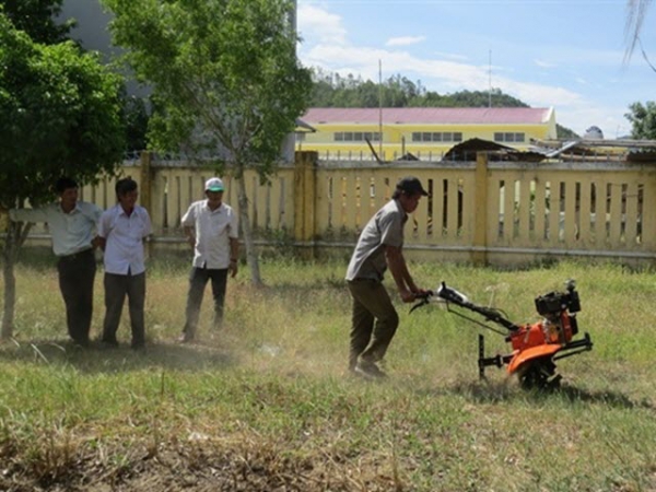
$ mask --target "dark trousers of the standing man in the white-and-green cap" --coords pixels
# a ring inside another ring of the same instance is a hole
[[[220,329],[223,324],[223,305],[225,303],[225,285],[227,283],[227,269],[191,268],[189,273],[189,291],[187,293],[187,309],[185,338],[192,339],[198,328],[200,305],[204,295],[208,281],[212,281],[212,297],[214,300],[214,328]]]

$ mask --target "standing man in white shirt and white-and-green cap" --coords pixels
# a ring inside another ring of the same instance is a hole
[[[183,216],[185,235],[194,248],[194,262],[180,342],[189,342],[196,337],[200,305],[210,280],[214,298],[214,329],[221,328],[227,273],[233,278],[237,274],[238,221],[232,207],[222,202],[224,189],[223,181],[218,177],[208,179],[207,199],[191,203]]]

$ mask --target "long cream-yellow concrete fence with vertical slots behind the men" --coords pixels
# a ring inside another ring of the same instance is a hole
[[[203,197],[213,173],[143,154],[124,163],[121,175],[140,184],[155,247],[173,247],[183,243],[181,215]],[[306,256],[350,251],[406,175],[418,176],[431,194],[406,226],[406,251],[417,259],[505,266],[563,257],[656,259],[656,163],[508,163],[479,153],[472,162],[378,164],[297,152],[268,184],[245,174],[248,214],[260,244],[284,237]],[[236,186],[224,180],[224,201],[236,208]],[[82,197],[114,204],[114,180],[84,187]]]

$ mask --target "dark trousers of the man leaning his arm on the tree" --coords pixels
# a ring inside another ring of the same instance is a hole
[[[69,336],[85,345],[89,343],[93,314],[93,282],[96,272],[93,249],[59,257],[57,271],[59,290],[66,304]]]

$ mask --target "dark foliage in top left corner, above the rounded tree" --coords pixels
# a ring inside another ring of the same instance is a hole
[[[67,38],[74,22],[58,23],[63,0],[0,0],[0,11],[35,43],[51,45]]]

